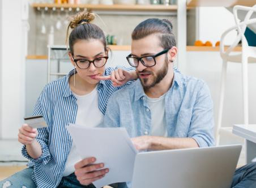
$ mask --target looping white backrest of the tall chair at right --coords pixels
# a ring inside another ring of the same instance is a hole
[[[244,20],[239,20],[238,16],[237,16],[237,12],[239,10],[243,10],[243,11],[248,11],[245,19]],[[220,39],[220,55],[222,58],[226,58],[228,57],[228,55],[233,51],[233,49],[238,45],[238,43],[240,42],[240,40],[242,40],[242,48],[246,48],[246,46],[248,46],[248,41],[245,38],[245,29],[247,27],[247,25],[249,24],[253,24],[256,23],[256,18],[251,18],[251,15],[253,15],[253,13],[256,12],[256,5],[254,5],[253,7],[246,7],[246,6],[234,6],[233,8],[233,15],[234,15],[234,21],[236,23],[236,25],[234,25],[233,27],[227,29],[227,31],[225,31],[223,33],[223,35],[221,35],[221,39]],[[233,44],[231,46],[229,46],[229,48],[225,51],[224,50],[224,39],[225,36],[227,36],[227,34],[233,30],[237,30],[238,31],[238,35],[236,37],[236,39],[234,40]]]

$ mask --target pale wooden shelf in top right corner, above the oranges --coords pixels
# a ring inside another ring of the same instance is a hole
[[[235,5],[254,6],[255,4],[256,0],[187,0],[188,7],[233,7]]]

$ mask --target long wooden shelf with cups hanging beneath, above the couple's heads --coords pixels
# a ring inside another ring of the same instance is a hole
[[[105,10],[105,11],[176,11],[177,5],[71,5],[71,4],[52,4],[52,3],[32,3],[34,8],[89,8],[92,10]]]

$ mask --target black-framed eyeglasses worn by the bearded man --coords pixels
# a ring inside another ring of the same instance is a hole
[[[159,55],[163,55],[169,51],[170,48],[164,49],[163,51],[155,54],[155,55],[145,55],[143,57],[132,57],[131,54],[126,57],[127,61],[132,67],[138,67],[139,61],[144,65],[145,67],[152,67],[156,65],[156,57]]]

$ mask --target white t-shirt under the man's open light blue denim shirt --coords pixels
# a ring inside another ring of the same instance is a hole
[[[157,99],[150,98],[146,95],[146,102],[151,111],[151,136],[167,137],[165,95],[166,93]]]

